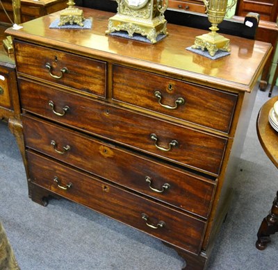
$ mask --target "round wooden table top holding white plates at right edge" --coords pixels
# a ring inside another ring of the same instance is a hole
[[[278,132],[270,126],[268,121],[268,114],[275,101],[278,101],[278,96],[274,96],[261,107],[256,121],[256,131],[263,150],[278,168]]]

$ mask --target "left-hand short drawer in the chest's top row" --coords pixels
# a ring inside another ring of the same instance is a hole
[[[14,46],[17,72],[85,94],[106,97],[106,62],[25,42],[15,41]]]

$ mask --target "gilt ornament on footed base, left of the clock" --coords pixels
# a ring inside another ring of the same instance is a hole
[[[63,26],[65,24],[78,24],[79,26],[83,26],[83,10],[79,8],[74,8],[74,0],[69,0],[67,2],[68,8],[62,10],[60,13],[60,22],[58,26]]]

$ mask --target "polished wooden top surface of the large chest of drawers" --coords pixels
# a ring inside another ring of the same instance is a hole
[[[252,91],[263,65],[271,52],[271,44],[229,36],[231,54],[218,60],[186,50],[195,37],[208,31],[167,24],[169,35],[156,44],[106,35],[108,18],[113,13],[84,10],[85,18],[92,18],[91,29],[54,29],[51,22],[59,18],[53,13],[22,24],[19,30],[9,28],[6,33],[18,39],[45,44],[84,56],[140,67],[181,80],[218,87],[223,90]]]

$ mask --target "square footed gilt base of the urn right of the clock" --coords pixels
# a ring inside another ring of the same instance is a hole
[[[208,50],[210,56],[214,56],[216,51],[231,51],[230,40],[218,33],[207,33],[204,35],[198,35],[195,37],[195,43],[192,46],[193,49],[204,49]]]

